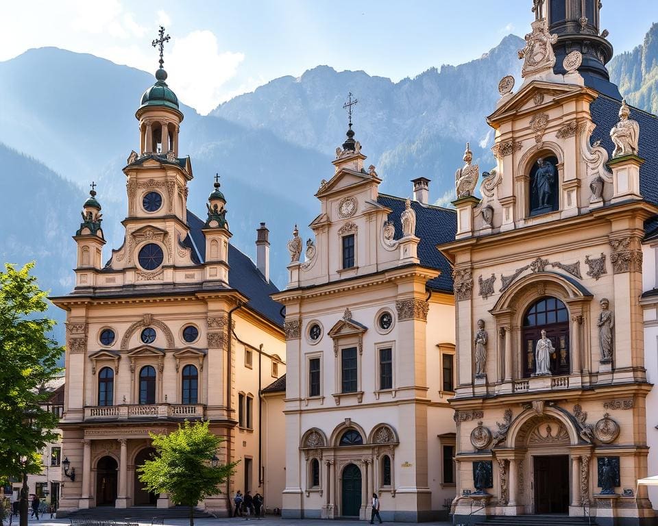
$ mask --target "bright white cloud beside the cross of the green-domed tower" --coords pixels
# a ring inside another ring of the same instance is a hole
[[[226,100],[222,86],[235,77],[244,59],[243,53],[219,51],[212,32],[194,31],[173,39],[171,53],[164,57],[167,84],[182,101],[207,114]]]

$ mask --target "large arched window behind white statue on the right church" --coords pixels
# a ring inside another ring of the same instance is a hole
[[[549,369],[553,375],[570,371],[569,364],[569,311],[557,298],[539,299],[528,308],[523,318],[522,371],[524,377],[533,375],[537,368],[535,352],[541,331],[546,331],[555,352],[550,355]]]

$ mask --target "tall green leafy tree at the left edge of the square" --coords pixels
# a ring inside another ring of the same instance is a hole
[[[0,479],[23,479],[21,526],[27,525],[27,475],[40,473],[40,451],[57,439],[58,418],[45,407],[46,382],[60,369],[64,349],[49,336],[55,321],[40,316],[46,293],[30,274],[5,264],[0,272]]]

